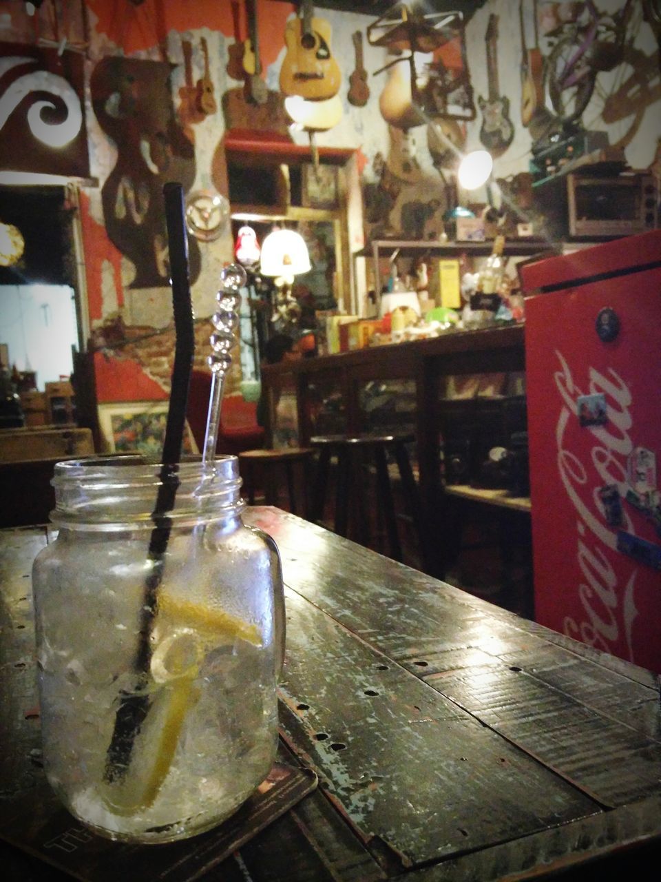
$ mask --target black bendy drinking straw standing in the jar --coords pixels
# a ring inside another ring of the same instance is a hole
[[[180,183],[169,182],[163,187],[165,197],[167,244],[170,258],[170,280],[175,312],[175,363],[172,369],[170,401],[163,441],[162,467],[156,505],[152,512],[153,529],[147,557],[151,563],[145,579],[145,596],[140,609],[140,629],[134,670],[135,688],[121,693],[115,715],[115,729],[108,745],[104,778],[118,781],[129,768],[136,736],[149,710],[150,697],[146,691],[152,662],[152,628],[158,606],[158,588],[163,575],[167,542],[172,519],[168,516],[175,507],[179,487],[179,462],[182,456],[183,429],[189,396],[190,370],[195,355],[193,310],[190,303],[189,252],[184,221],[183,191]]]

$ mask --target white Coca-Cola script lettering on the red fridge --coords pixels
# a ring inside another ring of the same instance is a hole
[[[555,354],[561,370],[553,377],[564,402],[555,427],[557,463],[568,499],[576,511],[576,558],[581,572],[576,592],[583,608],[583,618],[564,618],[563,630],[568,637],[614,654],[621,654],[623,637],[628,658],[633,661],[631,633],[638,615],[634,600],[636,568],[618,552],[616,531],[605,522],[604,505],[599,498],[599,490],[605,484],[615,484],[620,497],[627,492],[627,459],[633,450],[628,434],[632,425],[631,392],[612,368],[604,375],[591,367],[589,388],[583,392],[562,353],[556,349]],[[580,435],[576,435],[572,431],[577,425],[576,399],[598,393],[605,396],[607,422],[582,428]],[[585,432],[592,439],[590,449],[585,445]],[[576,450],[571,449],[572,444]],[[619,529],[634,534],[628,512],[623,511],[622,515]]]

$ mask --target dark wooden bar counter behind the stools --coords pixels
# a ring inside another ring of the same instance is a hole
[[[449,415],[458,405],[487,403],[488,398],[449,400],[449,377],[501,375],[523,377],[524,325],[474,331],[448,331],[428,340],[392,343],[336,355],[264,365],[262,385],[267,407],[269,442],[278,435],[278,408],[284,395],[296,410],[297,443],[337,433],[377,434],[404,428],[415,437],[421,520],[427,527],[426,572],[442,578],[449,550],[445,541],[452,520],[442,484],[442,443]],[[391,407],[377,407],[380,389],[390,386]],[[496,395],[494,403],[505,396]],[[293,409],[290,407],[290,410]],[[385,422],[384,422],[385,421]],[[498,444],[503,440],[499,439]],[[496,442],[494,442],[496,443]],[[473,499],[479,494],[473,494]],[[493,503],[489,494],[481,497]],[[502,504],[502,498],[496,500]]]

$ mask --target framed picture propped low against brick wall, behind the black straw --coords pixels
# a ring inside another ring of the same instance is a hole
[[[163,450],[166,421],[167,401],[120,401],[99,405],[99,425],[106,452],[159,457]],[[184,427],[182,452],[198,452],[188,421]]]

